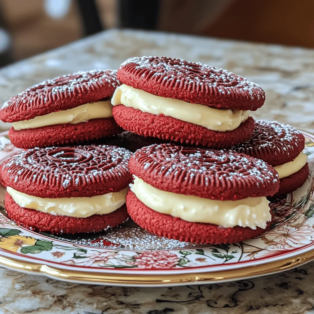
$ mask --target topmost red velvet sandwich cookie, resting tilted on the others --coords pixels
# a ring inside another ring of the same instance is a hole
[[[245,142],[250,111],[264,103],[257,84],[223,69],[167,57],[134,57],[118,69],[113,117],[139,135],[215,148]]]

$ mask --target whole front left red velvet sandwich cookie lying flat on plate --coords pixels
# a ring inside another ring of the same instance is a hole
[[[8,216],[29,229],[93,232],[129,217],[127,149],[111,145],[28,149],[3,165]]]

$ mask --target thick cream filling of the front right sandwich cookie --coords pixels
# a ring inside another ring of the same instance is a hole
[[[192,195],[176,194],[156,189],[135,177],[131,191],[149,208],[186,221],[202,222],[223,227],[265,228],[271,220],[266,197],[220,201]]]

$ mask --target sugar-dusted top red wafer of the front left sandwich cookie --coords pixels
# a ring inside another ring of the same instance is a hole
[[[5,162],[2,179],[41,198],[92,197],[127,187],[130,156],[127,149],[111,145],[28,149]]]

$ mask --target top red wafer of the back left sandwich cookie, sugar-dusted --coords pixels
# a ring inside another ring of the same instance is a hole
[[[116,73],[93,70],[42,82],[6,101],[0,110],[0,120],[30,120],[110,97],[120,85]]]

